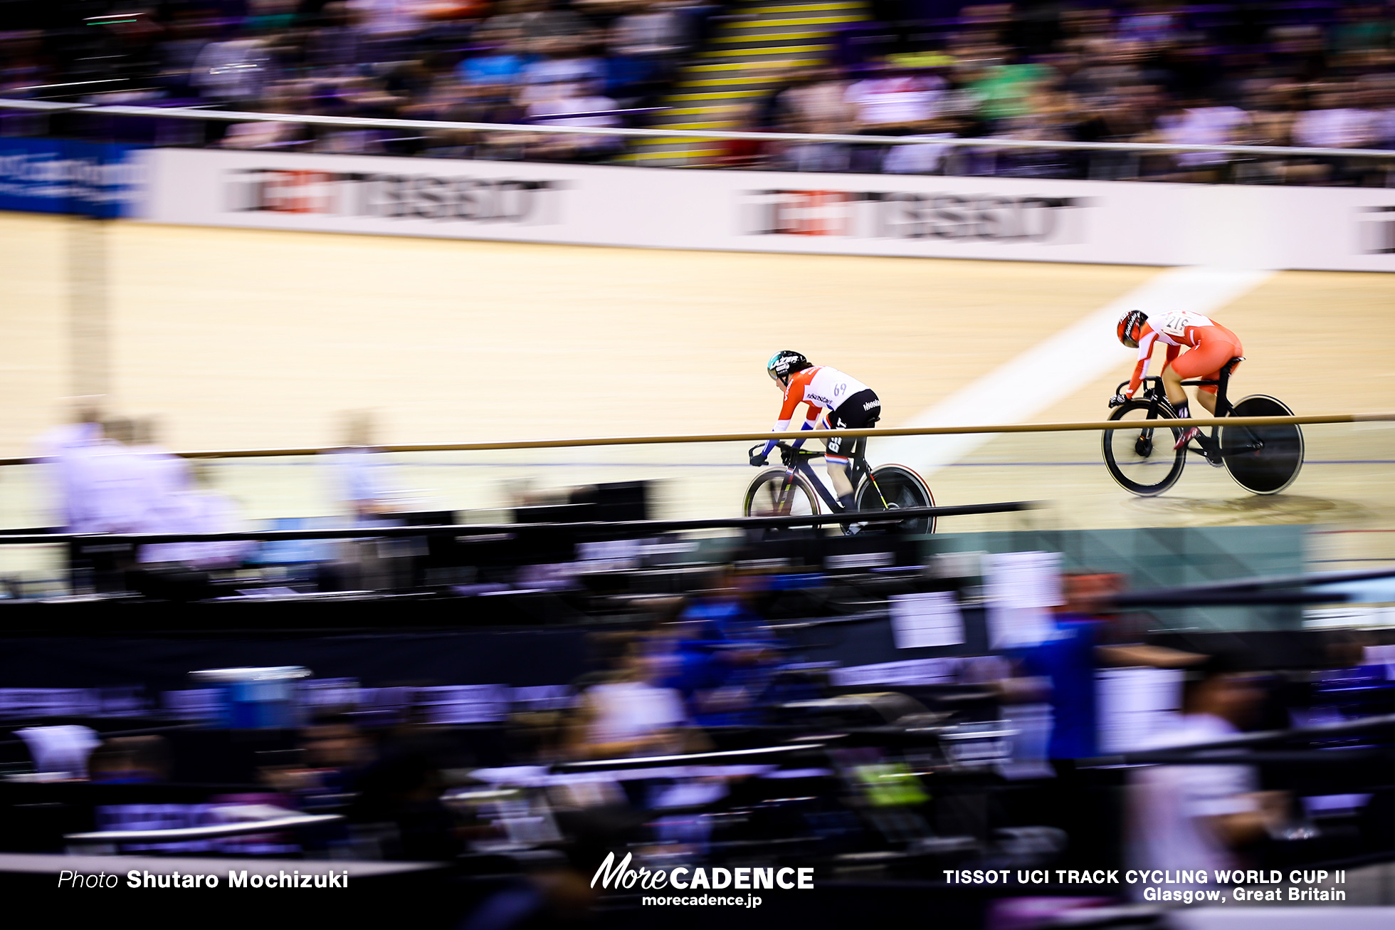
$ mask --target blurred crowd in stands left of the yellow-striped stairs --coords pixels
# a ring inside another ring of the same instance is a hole
[[[657,102],[716,7],[693,0],[246,0],[121,7],[0,35],[0,95],[233,110],[617,126]],[[124,14],[120,15],[120,14]],[[52,18],[52,15],[49,15]],[[22,117],[21,117],[22,119]],[[32,119],[32,117],[31,117]],[[11,121],[17,121],[11,117]],[[144,131],[138,127],[135,131]],[[596,159],[603,137],[279,123],[158,127],[158,144]]]

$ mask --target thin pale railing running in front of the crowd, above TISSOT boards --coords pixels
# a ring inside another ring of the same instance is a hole
[[[201,120],[211,123],[294,123],[299,126],[329,126],[339,128],[391,130],[466,130],[485,133],[529,133],[550,135],[607,135],[622,138],[650,138],[671,141],[746,140],[757,142],[836,142],[844,145],[940,145],[974,149],[1041,149],[1085,152],[1131,152],[1176,155],[1184,152],[1214,152],[1237,156],[1296,156],[1296,158],[1370,158],[1395,161],[1395,151],[1377,148],[1311,148],[1302,145],[1190,145],[1180,142],[1083,142],[1073,140],[1021,140],[1002,137],[928,138],[917,135],[852,135],[837,133],[753,133],[737,130],[698,128],[633,128],[591,126],[540,126],[516,123],[473,123],[458,120],[402,120],[361,116],[321,116],[308,113],[262,113],[246,110],[212,110],[198,108],[121,106],[103,103],[63,103],[53,101],[0,99],[0,109],[35,113],[82,113],[114,117],[158,117]]]

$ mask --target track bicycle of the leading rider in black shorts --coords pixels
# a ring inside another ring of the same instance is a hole
[[[854,443],[848,454],[848,479],[857,489],[852,501],[857,510],[901,510],[907,507],[933,507],[935,497],[919,475],[905,465],[879,465],[869,468],[864,457],[865,440]],[[751,447],[749,454],[764,448],[764,443]],[[813,517],[820,511],[820,501],[827,512],[847,512],[838,499],[809,466],[824,452],[805,451],[777,443],[783,465],[771,465],[760,471],[746,487],[742,514],[746,517]],[[873,524],[843,524],[847,535],[858,532],[886,532],[896,529],[907,533],[933,533],[935,517],[912,517],[903,521],[877,521]]]

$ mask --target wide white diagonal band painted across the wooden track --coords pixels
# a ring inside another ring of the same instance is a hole
[[[904,426],[1023,423],[1133,357],[1115,338],[1115,324],[1126,310],[1143,310],[1148,316],[1166,310],[1209,313],[1251,290],[1272,274],[1232,268],[1163,271],[922,411]],[[1161,362],[1159,356],[1154,369]],[[1105,399],[1099,398],[1101,419]],[[875,440],[872,461],[901,462],[928,476],[964,458],[993,436],[967,433]]]

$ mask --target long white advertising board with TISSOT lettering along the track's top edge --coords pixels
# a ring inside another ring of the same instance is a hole
[[[148,154],[163,223],[594,246],[1395,271],[1395,191]]]

